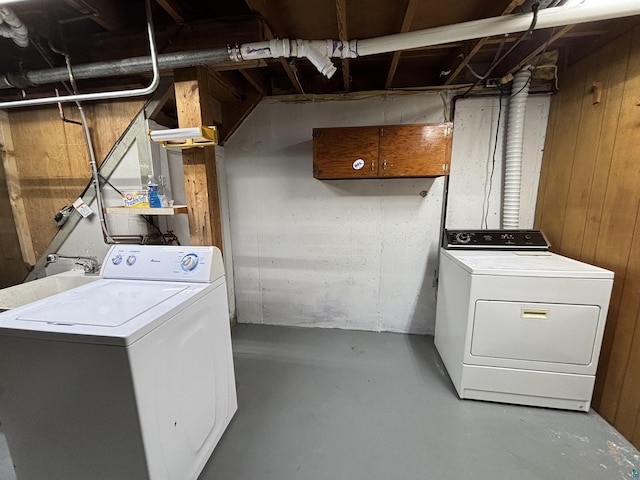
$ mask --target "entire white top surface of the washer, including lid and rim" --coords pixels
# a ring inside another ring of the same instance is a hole
[[[224,285],[96,280],[0,313],[0,335],[127,346]]]

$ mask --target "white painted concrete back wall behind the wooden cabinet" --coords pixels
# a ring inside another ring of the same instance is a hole
[[[549,99],[530,104],[526,219]],[[457,102],[450,226],[479,227],[497,105]],[[433,332],[444,178],[315,180],[311,133],[443,120],[434,94],[259,105],[225,145],[238,322]],[[496,170],[490,227],[499,218],[500,178]]]

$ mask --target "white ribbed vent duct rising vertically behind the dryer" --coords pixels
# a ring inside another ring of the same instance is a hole
[[[507,149],[502,190],[502,228],[517,229],[520,219],[520,191],[522,187],[522,157],[524,149],[524,117],[529,97],[531,70],[526,68],[514,75],[507,117]]]

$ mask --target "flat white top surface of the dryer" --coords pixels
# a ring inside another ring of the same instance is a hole
[[[551,252],[444,250],[473,275],[613,278],[613,272]]]

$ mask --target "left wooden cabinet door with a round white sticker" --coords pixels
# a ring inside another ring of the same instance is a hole
[[[377,177],[379,136],[379,127],[314,128],[313,176]]]

